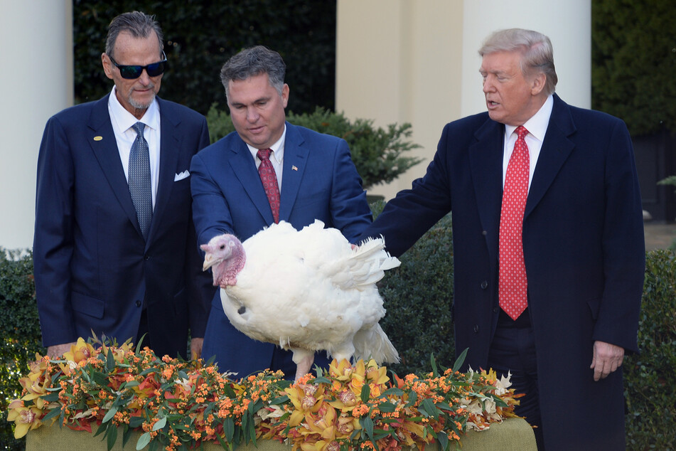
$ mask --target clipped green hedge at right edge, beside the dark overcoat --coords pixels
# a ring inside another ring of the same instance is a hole
[[[648,253],[638,329],[640,354],[623,364],[627,448],[676,449],[676,255]]]

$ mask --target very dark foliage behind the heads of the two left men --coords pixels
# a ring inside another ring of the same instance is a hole
[[[112,88],[101,66],[108,24],[126,11],[154,14],[164,33],[169,68],[160,96],[203,114],[225,107],[220,68],[242,48],[262,44],[281,54],[289,107],[333,108],[336,1],[74,0],[75,97],[97,100]]]

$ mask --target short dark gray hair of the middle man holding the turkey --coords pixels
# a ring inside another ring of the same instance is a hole
[[[220,80],[225,87],[225,97],[229,94],[228,83],[230,81],[247,80],[254,75],[266,73],[269,83],[279,95],[284,88],[284,75],[286,64],[281,55],[265,46],[255,46],[232,56],[225,62],[220,70]]]

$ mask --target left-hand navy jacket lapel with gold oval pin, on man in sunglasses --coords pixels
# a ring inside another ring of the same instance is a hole
[[[92,151],[99,161],[103,174],[124,213],[127,214],[129,221],[132,221],[136,231],[141,235],[139,220],[136,218],[132,195],[129,193],[129,184],[127,184],[127,177],[124,176],[124,168],[117,149],[117,140],[110,122],[108,96],[96,102],[92,108],[87,127],[87,133],[90,134],[87,141],[92,146]]]

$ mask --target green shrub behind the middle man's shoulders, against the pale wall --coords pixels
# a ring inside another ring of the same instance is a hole
[[[235,131],[226,112],[212,105],[206,115],[211,142]],[[422,159],[403,156],[404,152],[420,147],[410,142],[411,124],[390,124],[387,129],[373,127],[372,120],[348,120],[342,113],[334,113],[317,107],[312,113],[295,115],[289,112],[286,120],[320,133],[343,138],[350,146],[352,160],[363,179],[364,189],[388,183],[418,164]]]

